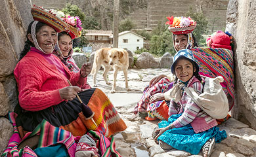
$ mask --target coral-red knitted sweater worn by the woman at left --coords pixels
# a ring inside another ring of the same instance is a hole
[[[53,55],[54,58],[56,56]],[[58,60],[58,58],[56,58]],[[33,50],[30,50],[14,69],[17,81],[20,107],[28,111],[40,111],[64,101],[60,98],[59,89],[68,84],[67,78],[73,86],[83,86],[87,79],[79,73],[72,73],[60,60],[66,71],[66,77],[58,71],[55,65]]]

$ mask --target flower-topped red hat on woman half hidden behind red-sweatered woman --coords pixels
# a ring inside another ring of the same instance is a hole
[[[83,28],[81,27],[82,22],[78,16],[66,15],[64,18],[62,18],[62,20],[64,20],[64,22],[68,24],[68,30],[66,30],[66,32],[70,35],[72,39],[81,36],[81,30]]]

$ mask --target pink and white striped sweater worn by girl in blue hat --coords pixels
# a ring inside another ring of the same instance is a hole
[[[198,94],[201,94],[203,91],[203,84],[194,76],[189,80],[186,86],[196,89]],[[168,94],[168,92],[166,92],[165,95],[166,94]],[[194,131],[198,133],[217,126],[217,121],[196,105],[186,92],[183,93],[181,100],[178,102],[178,104],[181,105],[181,109],[179,111],[175,109],[173,104],[174,101],[171,99],[169,105],[169,116],[173,114],[182,114],[177,120],[175,120],[175,122],[173,122],[175,128],[191,124]]]

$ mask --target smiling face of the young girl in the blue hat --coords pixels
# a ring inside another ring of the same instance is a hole
[[[179,59],[175,65],[175,75],[182,82],[186,82],[191,79],[194,74],[193,64],[186,59]]]

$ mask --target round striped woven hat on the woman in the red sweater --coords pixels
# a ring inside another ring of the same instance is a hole
[[[44,10],[43,7],[38,7],[33,5],[31,9],[33,20],[43,22],[48,26],[53,27],[57,32],[66,31],[68,29],[68,24],[64,22],[61,18],[58,18],[53,12]]]

